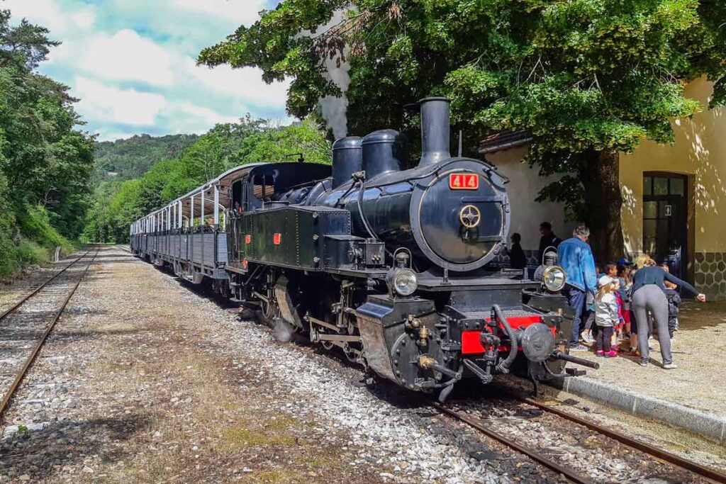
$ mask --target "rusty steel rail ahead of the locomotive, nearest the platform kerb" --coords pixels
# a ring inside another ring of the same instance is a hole
[[[719,472],[716,469],[711,469],[711,467],[705,467],[701,464],[697,464],[696,462],[689,461],[688,459],[684,459],[680,456],[677,456],[676,454],[671,454],[669,451],[665,451],[662,448],[650,446],[647,443],[640,442],[640,440],[635,440],[634,438],[629,437],[628,435],[625,435],[621,432],[617,432],[616,430],[608,429],[608,427],[603,427],[603,425],[596,424],[595,422],[590,422],[589,420],[582,419],[580,417],[577,417],[576,415],[547,405],[547,403],[541,403],[534,400],[533,398],[518,395],[513,392],[510,392],[510,394],[514,395],[515,398],[518,398],[518,400],[522,401],[523,403],[531,406],[536,406],[538,409],[548,411],[551,414],[558,415],[558,417],[562,417],[563,419],[567,419],[576,424],[584,425],[584,427],[587,427],[590,430],[594,430],[595,432],[606,435],[609,438],[617,440],[620,443],[624,443],[625,445],[635,448],[638,451],[645,452],[645,454],[650,454],[651,456],[668,462],[669,464],[681,467],[682,469],[686,469],[690,472],[695,472],[696,474],[714,480],[717,483],[726,483],[726,474]]]

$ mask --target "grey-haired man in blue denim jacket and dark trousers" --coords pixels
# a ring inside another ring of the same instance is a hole
[[[567,274],[567,283],[562,294],[575,311],[570,336],[570,351],[587,351],[587,346],[579,344],[580,328],[584,320],[585,305],[588,294],[595,296],[597,291],[597,274],[595,259],[587,244],[590,229],[580,223],[572,231],[573,237],[560,243],[557,248],[558,263]]]

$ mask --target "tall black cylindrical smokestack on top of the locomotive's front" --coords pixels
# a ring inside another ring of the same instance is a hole
[[[451,157],[449,153],[449,99],[421,99],[421,161],[419,166],[433,165]]]

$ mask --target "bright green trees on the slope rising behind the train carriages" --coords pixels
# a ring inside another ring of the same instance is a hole
[[[127,242],[131,222],[237,165],[297,158],[330,163],[322,127],[306,119],[273,127],[247,115],[240,123],[221,124],[182,149],[159,160],[139,179],[99,184],[86,217],[83,239]]]

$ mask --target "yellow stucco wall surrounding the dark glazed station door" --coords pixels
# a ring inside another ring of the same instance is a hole
[[[726,252],[726,110],[707,109],[712,84],[690,83],[686,95],[703,103],[693,119],[674,122],[673,146],[643,141],[630,155],[620,157],[623,235],[630,253],[643,251],[643,172],[670,171],[690,175],[690,204],[694,208],[695,252]]]

